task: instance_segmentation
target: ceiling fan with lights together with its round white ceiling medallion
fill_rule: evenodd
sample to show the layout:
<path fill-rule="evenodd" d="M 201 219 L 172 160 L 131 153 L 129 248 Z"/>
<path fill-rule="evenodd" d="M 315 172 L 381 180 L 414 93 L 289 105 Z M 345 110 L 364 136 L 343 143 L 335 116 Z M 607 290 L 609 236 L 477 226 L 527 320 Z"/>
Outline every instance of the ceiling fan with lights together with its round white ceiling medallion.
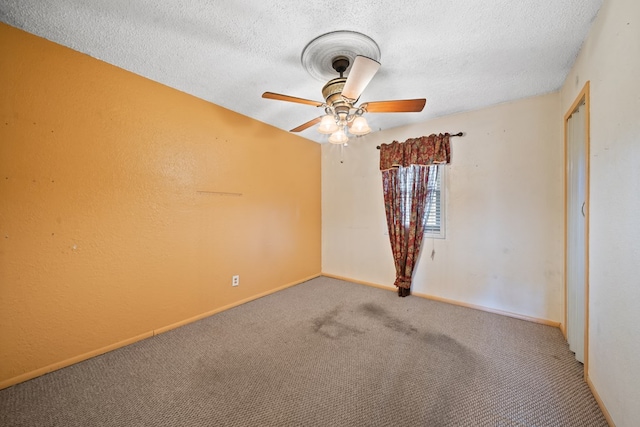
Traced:
<path fill-rule="evenodd" d="M 302 66 L 318 80 L 329 81 L 322 88 L 325 102 L 265 92 L 263 98 L 323 107 L 325 115 L 291 129 L 301 132 L 317 123 L 317 131 L 330 135 L 332 144 L 346 144 L 347 133 L 360 136 L 371 132 L 364 113 L 420 112 L 426 100 L 407 99 L 368 102 L 356 106 L 360 95 L 380 68 L 380 48 L 370 37 L 355 31 L 334 31 L 316 37 L 302 51 Z M 331 71 L 333 70 L 333 71 Z M 348 72 L 347 77 L 344 73 Z M 339 77 L 335 77 L 335 73 Z"/>

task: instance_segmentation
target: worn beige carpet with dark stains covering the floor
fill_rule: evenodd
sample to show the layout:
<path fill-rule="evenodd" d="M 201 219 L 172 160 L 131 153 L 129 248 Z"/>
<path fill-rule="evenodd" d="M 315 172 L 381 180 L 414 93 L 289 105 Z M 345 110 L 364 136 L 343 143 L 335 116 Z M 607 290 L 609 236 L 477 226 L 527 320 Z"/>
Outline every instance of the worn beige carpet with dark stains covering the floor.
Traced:
<path fill-rule="evenodd" d="M 606 426 L 556 328 L 329 278 L 0 391 L 2 426 Z"/>

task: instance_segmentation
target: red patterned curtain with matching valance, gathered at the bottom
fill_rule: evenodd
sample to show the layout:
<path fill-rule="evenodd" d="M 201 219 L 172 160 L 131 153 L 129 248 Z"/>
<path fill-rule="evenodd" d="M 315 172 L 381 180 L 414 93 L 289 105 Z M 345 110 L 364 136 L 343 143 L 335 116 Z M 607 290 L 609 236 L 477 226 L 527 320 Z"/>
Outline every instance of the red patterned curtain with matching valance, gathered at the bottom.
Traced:
<path fill-rule="evenodd" d="M 380 170 L 389 240 L 396 267 L 394 285 L 399 296 L 411 289 L 427 209 L 429 167 L 450 163 L 449 134 L 412 138 L 400 143 L 382 144 Z"/>

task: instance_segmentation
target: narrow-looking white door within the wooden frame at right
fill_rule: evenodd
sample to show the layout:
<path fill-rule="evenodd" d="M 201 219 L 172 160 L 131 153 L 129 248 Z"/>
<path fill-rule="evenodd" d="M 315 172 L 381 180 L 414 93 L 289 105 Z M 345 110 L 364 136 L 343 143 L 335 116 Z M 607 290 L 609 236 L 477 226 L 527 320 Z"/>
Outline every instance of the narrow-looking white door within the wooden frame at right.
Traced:
<path fill-rule="evenodd" d="M 586 294 L 586 118 L 584 102 L 567 120 L 567 341 L 584 363 Z"/>

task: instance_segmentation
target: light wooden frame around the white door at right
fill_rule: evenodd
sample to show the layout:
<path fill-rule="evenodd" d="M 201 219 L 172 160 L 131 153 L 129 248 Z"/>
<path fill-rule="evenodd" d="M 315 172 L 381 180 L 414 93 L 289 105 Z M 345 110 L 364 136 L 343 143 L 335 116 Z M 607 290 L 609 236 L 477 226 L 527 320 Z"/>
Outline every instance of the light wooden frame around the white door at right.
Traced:
<path fill-rule="evenodd" d="M 567 163 L 568 147 L 567 147 L 567 122 L 569 117 L 577 110 L 578 106 L 584 102 L 585 107 L 585 201 L 584 201 L 584 379 L 585 381 L 589 377 L 589 177 L 590 173 L 590 159 L 589 159 L 589 147 L 591 145 L 591 103 L 589 97 L 590 82 L 587 81 L 584 87 L 576 97 L 571 107 L 564 115 L 564 323 L 562 325 L 562 333 L 567 338 L 567 317 L 568 317 L 568 290 L 567 290 L 567 274 L 568 274 L 568 218 L 569 210 L 567 206 L 568 199 L 568 181 Z"/>

